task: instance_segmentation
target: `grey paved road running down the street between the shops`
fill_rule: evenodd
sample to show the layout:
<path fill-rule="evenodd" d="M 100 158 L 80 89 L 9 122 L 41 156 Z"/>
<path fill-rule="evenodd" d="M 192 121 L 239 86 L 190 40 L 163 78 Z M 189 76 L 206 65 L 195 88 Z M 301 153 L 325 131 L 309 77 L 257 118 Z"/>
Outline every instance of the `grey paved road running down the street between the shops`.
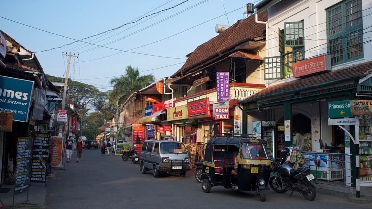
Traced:
<path fill-rule="evenodd" d="M 266 202 L 260 202 L 254 193 L 223 187 L 212 187 L 210 193 L 204 193 L 193 171 L 187 172 L 186 177 L 154 178 L 151 172 L 142 174 L 139 165 L 123 162 L 120 156 L 101 156 L 98 150 L 84 150 L 81 162 L 72 161 L 65 171 L 54 171 L 55 179 L 47 185 L 48 209 L 371 208 L 370 204 L 351 203 L 326 194 L 307 201 L 298 193 L 289 197 L 289 193 L 267 190 Z"/>

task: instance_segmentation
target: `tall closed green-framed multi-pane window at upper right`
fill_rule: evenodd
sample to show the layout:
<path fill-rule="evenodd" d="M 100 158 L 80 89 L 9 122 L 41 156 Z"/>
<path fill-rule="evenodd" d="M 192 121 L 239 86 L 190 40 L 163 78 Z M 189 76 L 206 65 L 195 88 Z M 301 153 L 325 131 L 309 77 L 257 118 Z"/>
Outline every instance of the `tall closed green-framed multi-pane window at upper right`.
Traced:
<path fill-rule="evenodd" d="M 362 0 L 347 0 L 326 10 L 332 65 L 363 58 Z"/>

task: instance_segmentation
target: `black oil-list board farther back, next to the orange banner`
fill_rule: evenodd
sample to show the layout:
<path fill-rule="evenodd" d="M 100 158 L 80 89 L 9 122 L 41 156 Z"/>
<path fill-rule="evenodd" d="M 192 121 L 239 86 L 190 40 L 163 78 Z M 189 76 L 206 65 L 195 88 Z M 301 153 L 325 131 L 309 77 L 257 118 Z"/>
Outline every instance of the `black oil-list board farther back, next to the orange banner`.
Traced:
<path fill-rule="evenodd" d="M 31 181 L 45 182 L 48 165 L 49 134 L 36 133 L 32 150 Z"/>

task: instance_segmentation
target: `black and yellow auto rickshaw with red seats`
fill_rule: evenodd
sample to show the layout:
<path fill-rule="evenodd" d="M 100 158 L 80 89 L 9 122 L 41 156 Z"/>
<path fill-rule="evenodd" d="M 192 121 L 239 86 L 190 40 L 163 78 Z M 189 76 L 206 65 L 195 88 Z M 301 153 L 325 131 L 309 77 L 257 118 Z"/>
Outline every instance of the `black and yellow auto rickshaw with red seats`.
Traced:
<path fill-rule="evenodd" d="M 266 141 L 248 134 L 212 137 L 205 148 L 202 189 L 213 186 L 239 191 L 256 191 L 261 201 L 270 178 Z"/>

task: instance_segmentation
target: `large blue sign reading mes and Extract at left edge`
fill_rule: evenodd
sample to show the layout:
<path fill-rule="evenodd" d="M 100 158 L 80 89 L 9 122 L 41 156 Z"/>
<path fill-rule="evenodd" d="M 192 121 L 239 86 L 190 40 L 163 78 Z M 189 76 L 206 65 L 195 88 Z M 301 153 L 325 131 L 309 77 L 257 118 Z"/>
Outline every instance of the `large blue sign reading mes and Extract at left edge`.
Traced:
<path fill-rule="evenodd" d="M 27 122 L 34 82 L 0 75 L 0 111 L 13 113 L 13 120 Z"/>

